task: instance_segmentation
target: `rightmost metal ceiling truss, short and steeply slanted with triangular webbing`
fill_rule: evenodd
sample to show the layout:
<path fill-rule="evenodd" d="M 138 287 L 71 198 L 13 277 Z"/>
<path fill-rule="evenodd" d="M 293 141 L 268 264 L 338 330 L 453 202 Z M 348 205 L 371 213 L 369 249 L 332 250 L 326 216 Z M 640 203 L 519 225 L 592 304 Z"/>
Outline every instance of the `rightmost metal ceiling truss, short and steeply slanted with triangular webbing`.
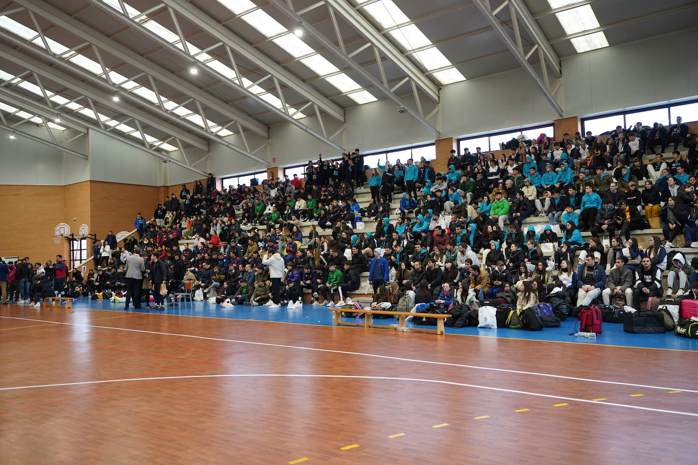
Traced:
<path fill-rule="evenodd" d="M 504 0 L 503 3 L 496 8 L 491 8 L 490 0 L 473 0 L 473 3 L 477 9 L 480 10 L 485 20 L 492 26 L 493 31 L 499 36 L 503 43 L 505 43 L 512 55 L 514 55 L 514 58 L 517 59 L 523 69 L 526 70 L 526 73 L 530 75 L 535 85 L 540 89 L 555 112 L 559 116 L 563 116 L 563 109 L 553 95 L 554 92 L 559 89 L 561 82 L 560 59 L 555 54 L 547 39 L 543 36 L 540 28 L 535 24 L 533 17 L 526 7 L 523 6 L 523 3 L 521 3 L 521 0 Z M 513 40 L 500 24 L 500 20 L 496 17 L 497 13 L 507 7 L 512 17 L 512 29 L 514 30 Z M 519 26 L 525 27 L 529 32 L 530 38 L 533 40 L 533 48 L 526 53 L 523 51 L 523 42 L 521 40 L 521 30 Z M 540 61 L 540 75 L 538 75 L 535 69 L 533 69 L 533 66 L 528 62 L 528 59 L 530 59 L 535 52 L 538 52 L 538 59 Z M 554 86 L 554 89 L 551 89 L 550 86 L 550 78 L 548 76 L 549 69 L 556 77 L 560 78 Z"/>

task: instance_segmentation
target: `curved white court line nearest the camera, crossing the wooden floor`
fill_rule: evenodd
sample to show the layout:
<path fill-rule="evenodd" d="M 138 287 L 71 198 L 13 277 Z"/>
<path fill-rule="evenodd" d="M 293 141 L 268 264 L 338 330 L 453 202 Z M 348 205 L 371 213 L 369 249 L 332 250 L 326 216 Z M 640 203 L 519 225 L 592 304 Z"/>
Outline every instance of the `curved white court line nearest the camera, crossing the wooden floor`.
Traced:
<path fill-rule="evenodd" d="M 638 405 L 616 404 L 614 402 L 600 402 L 588 399 L 577 399 L 576 397 L 563 397 L 559 395 L 541 394 L 540 392 L 528 392 L 525 390 L 493 388 L 491 386 L 478 386 L 477 384 L 455 383 L 454 381 L 441 381 L 439 379 L 419 379 L 419 378 L 393 378 L 390 376 L 350 376 L 341 374 L 195 374 L 189 376 L 158 376 L 156 378 L 130 378 L 130 379 L 107 379 L 103 381 L 81 381 L 79 383 L 59 383 L 59 384 L 40 384 L 36 386 L 17 386 L 15 388 L 0 388 L 0 390 L 13 389 L 31 389 L 31 388 L 53 388 L 58 386 L 79 386 L 81 384 L 99 384 L 99 383 L 121 383 L 125 381 L 154 381 L 162 379 L 193 379 L 193 378 L 244 378 L 244 377 L 278 377 L 278 378 L 345 378 L 345 379 L 388 379 L 393 381 L 419 381 L 422 383 L 438 383 L 448 384 L 451 386 L 463 386 L 465 388 L 476 388 L 486 390 L 496 390 L 500 392 L 512 392 L 514 394 L 534 395 L 537 397 L 547 397 L 549 399 L 563 399 L 572 402 L 585 402 L 586 404 L 603 404 L 616 407 L 624 407 L 626 409 L 646 410 L 661 413 L 674 413 L 676 415 L 685 415 L 698 417 L 698 413 L 690 413 L 674 410 L 652 409 L 651 407 L 643 407 Z"/>

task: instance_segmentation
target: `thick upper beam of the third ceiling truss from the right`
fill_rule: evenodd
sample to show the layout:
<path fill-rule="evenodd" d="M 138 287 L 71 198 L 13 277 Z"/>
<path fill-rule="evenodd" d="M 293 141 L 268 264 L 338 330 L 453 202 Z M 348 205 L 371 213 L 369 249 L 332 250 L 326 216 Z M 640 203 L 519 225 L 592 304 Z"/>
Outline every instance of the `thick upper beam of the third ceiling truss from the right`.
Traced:
<path fill-rule="evenodd" d="M 94 0 L 93 0 L 94 1 Z M 318 105 L 325 113 L 332 116 L 338 121 L 344 121 L 344 110 L 331 102 L 327 97 L 313 89 L 311 86 L 304 84 L 301 79 L 285 70 L 279 63 L 269 58 L 252 45 L 230 31 L 227 27 L 216 22 L 212 17 L 204 13 L 202 10 L 185 0 L 162 0 L 165 5 L 177 11 L 180 15 L 187 18 L 203 31 L 207 31 L 214 36 L 216 40 L 221 40 L 225 45 L 228 45 L 235 52 L 244 56 L 246 59 L 257 63 L 267 72 L 272 73 L 274 77 L 279 79 L 288 89 L 299 93 L 304 98 Z"/>

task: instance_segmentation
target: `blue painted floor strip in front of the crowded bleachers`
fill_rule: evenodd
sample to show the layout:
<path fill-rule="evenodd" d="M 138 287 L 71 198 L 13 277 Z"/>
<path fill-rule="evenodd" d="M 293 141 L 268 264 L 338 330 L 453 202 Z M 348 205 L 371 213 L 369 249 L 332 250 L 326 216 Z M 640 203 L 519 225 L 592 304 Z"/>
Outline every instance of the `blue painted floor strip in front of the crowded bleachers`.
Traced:
<path fill-rule="evenodd" d="M 89 300 L 79 298 L 73 300 L 75 309 L 98 309 L 124 311 L 124 303 L 111 303 L 108 300 Z M 130 310 L 134 312 L 133 308 Z M 268 307 L 246 307 L 236 305 L 225 308 L 205 302 L 183 303 L 179 307 L 168 306 L 164 311 L 143 308 L 139 312 L 184 315 L 188 317 L 228 318 L 240 320 L 279 321 L 281 323 L 300 323 L 320 326 L 332 326 L 332 312 L 320 305 L 303 305 L 303 308 L 269 309 Z M 343 318 L 343 321 L 359 322 L 363 319 Z M 390 325 L 397 323 L 396 319 L 376 320 L 378 324 Z M 408 323 L 412 326 L 412 323 Z M 344 326 L 346 330 L 360 330 Z M 419 326 L 429 328 L 429 326 Z M 436 327 L 433 327 L 436 328 Z M 698 340 L 690 340 L 674 335 L 673 332 L 664 334 L 631 334 L 623 331 L 623 325 L 604 323 L 603 334 L 596 339 L 586 339 L 570 335 L 574 330 L 574 319 L 563 321 L 560 328 L 545 328 L 542 331 L 524 331 L 515 329 L 484 329 L 484 328 L 446 328 L 446 333 L 454 335 L 469 335 L 480 337 L 505 337 L 512 339 L 543 340 L 556 342 L 576 342 L 582 344 L 604 344 L 615 346 L 646 347 L 650 349 L 678 349 L 698 351 Z M 436 337 L 436 336 L 435 336 Z"/>

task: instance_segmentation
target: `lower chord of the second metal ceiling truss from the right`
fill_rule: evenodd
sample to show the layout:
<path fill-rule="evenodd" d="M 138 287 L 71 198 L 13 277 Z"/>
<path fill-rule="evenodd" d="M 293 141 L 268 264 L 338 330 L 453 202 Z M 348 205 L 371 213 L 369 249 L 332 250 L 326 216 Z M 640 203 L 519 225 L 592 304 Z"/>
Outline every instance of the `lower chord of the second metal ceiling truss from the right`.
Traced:
<path fill-rule="evenodd" d="M 398 107 L 404 107 L 404 109 L 406 109 L 407 112 L 411 116 L 413 116 L 414 119 L 416 119 L 419 123 L 424 125 L 424 127 L 427 130 L 429 130 L 429 132 L 431 132 L 436 137 L 440 136 L 440 131 L 436 129 L 436 127 L 434 127 L 431 123 L 429 123 L 429 121 L 426 121 L 422 112 L 419 112 L 418 110 L 415 110 L 413 107 L 410 107 L 410 105 L 408 105 L 407 102 L 396 96 L 390 89 L 388 89 L 387 86 L 385 86 L 385 84 L 383 84 L 383 82 L 380 81 L 380 79 L 371 75 L 371 73 L 366 71 L 364 68 L 362 68 L 361 65 L 359 65 L 359 63 L 352 59 L 351 56 L 349 56 L 348 54 L 346 54 L 346 52 L 343 52 L 339 47 L 334 45 L 332 40 L 329 40 L 329 38 L 325 37 L 322 33 L 320 33 L 320 31 L 315 29 L 315 27 L 311 26 L 310 24 L 307 24 L 307 22 L 303 20 L 303 17 L 296 13 L 296 11 L 285 2 L 285 0 L 269 0 L 269 3 L 276 6 L 276 8 L 279 8 L 279 10 L 281 10 L 281 12 L 284 13 L 287 17 L 289 17 L 293 22 L 302 23 L 305 31 L 309 33 L 311 36 L 313 36 L 315 40 L 318 40 L 318 42 L 320 42 L 324 47 L 326 47 L 329 52 L 332 52 L 332 54 L 334 54 L 339 59 L 347 63 L 348 66 L 350 66 L 352 70 L 354 70 L 357 74 L 362 76 L 367 81 L 371 82 L 371 84 L 373 84 L 373 86 L 376 89 L 381 91 L 387 98 L 389 98 L 389 100 L 392 100 Z M 378 63 L 382 63 L 382 60 L 379 59 Z"/>

